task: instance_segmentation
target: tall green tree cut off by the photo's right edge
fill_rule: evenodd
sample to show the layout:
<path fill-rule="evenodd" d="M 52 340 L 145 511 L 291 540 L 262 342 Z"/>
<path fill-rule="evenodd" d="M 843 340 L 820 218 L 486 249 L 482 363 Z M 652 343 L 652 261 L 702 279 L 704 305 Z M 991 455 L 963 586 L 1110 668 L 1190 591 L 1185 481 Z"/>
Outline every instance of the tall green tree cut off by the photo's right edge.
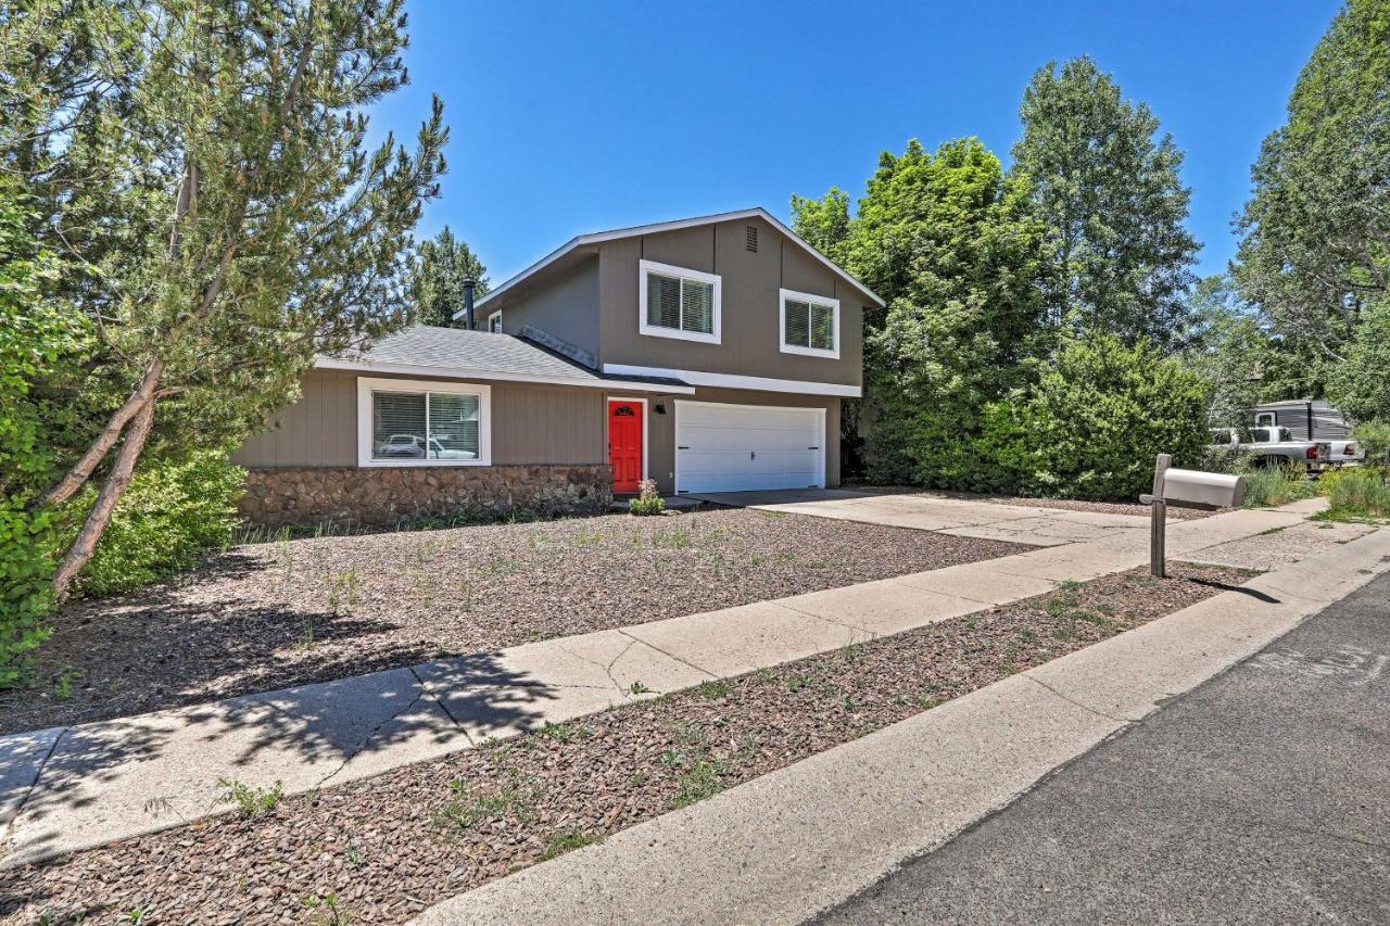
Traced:
<path fill-rule="evenodd" d="M 1233 267 L 1282 334 L 1341 359 L 1390 299 L 1390 3 L 1351 0 L 1265 139 Z"/>

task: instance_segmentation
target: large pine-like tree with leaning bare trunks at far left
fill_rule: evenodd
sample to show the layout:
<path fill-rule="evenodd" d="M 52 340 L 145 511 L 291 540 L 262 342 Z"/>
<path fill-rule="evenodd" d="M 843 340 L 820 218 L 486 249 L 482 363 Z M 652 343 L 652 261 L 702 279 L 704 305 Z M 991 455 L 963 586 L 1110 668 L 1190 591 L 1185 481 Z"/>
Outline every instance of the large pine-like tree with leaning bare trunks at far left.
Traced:
<path fill-rule="evenodd" d="M 406 82 L 402 0 L 33 0 L 0 22 L 0 168 L 99 334 L 103 412 L 44 495 L 101 478 L 53 576 L 92 556 L 147 445 L 222 446 L 313 356 L 400 324 L 402 253 L 436 195 L 438 100 L 414 152 L 368 149 Z M 96 393 L 95 398 L 92 393 Z"/>

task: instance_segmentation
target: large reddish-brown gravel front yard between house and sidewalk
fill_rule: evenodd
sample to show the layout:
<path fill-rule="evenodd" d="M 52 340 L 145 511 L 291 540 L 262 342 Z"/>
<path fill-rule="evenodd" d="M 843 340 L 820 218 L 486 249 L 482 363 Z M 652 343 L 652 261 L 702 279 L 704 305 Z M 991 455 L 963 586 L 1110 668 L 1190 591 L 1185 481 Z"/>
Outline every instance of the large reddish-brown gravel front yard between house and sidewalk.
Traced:
<path fill-rule="evenodd" d="M 1030 549 L 716 509 L 234 548 L 178 583 L 76 602 L 0 733 L 271 691 Z"/>

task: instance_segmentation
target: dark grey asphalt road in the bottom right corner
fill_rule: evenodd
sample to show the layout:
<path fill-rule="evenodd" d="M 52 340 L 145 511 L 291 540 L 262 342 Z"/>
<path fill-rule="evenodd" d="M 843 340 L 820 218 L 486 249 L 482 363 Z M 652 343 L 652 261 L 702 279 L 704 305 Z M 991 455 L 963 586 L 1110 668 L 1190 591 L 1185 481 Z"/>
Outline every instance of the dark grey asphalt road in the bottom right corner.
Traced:
<path fill-rule="evenodd" d="M 1390 574 L 819 923 L 1390 923 Z"/>

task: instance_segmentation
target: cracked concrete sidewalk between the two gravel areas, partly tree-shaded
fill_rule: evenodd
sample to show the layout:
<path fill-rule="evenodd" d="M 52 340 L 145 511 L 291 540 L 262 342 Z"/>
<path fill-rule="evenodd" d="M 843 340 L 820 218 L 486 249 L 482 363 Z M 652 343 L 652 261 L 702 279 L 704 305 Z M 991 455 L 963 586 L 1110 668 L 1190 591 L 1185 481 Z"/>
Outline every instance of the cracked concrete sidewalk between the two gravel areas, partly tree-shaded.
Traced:
<path fill-rule="evenodd" d="M 1173 558 L 1291 527 L 1302 510 L 1169 527 Z M 225 809 L 220 779 L 304 793 L 610 705 L 901 633 L 1148 560 L 1147 538 L 952 566 L 620 630 L 70 729 L 0 737 L 0 865 Z"/>

